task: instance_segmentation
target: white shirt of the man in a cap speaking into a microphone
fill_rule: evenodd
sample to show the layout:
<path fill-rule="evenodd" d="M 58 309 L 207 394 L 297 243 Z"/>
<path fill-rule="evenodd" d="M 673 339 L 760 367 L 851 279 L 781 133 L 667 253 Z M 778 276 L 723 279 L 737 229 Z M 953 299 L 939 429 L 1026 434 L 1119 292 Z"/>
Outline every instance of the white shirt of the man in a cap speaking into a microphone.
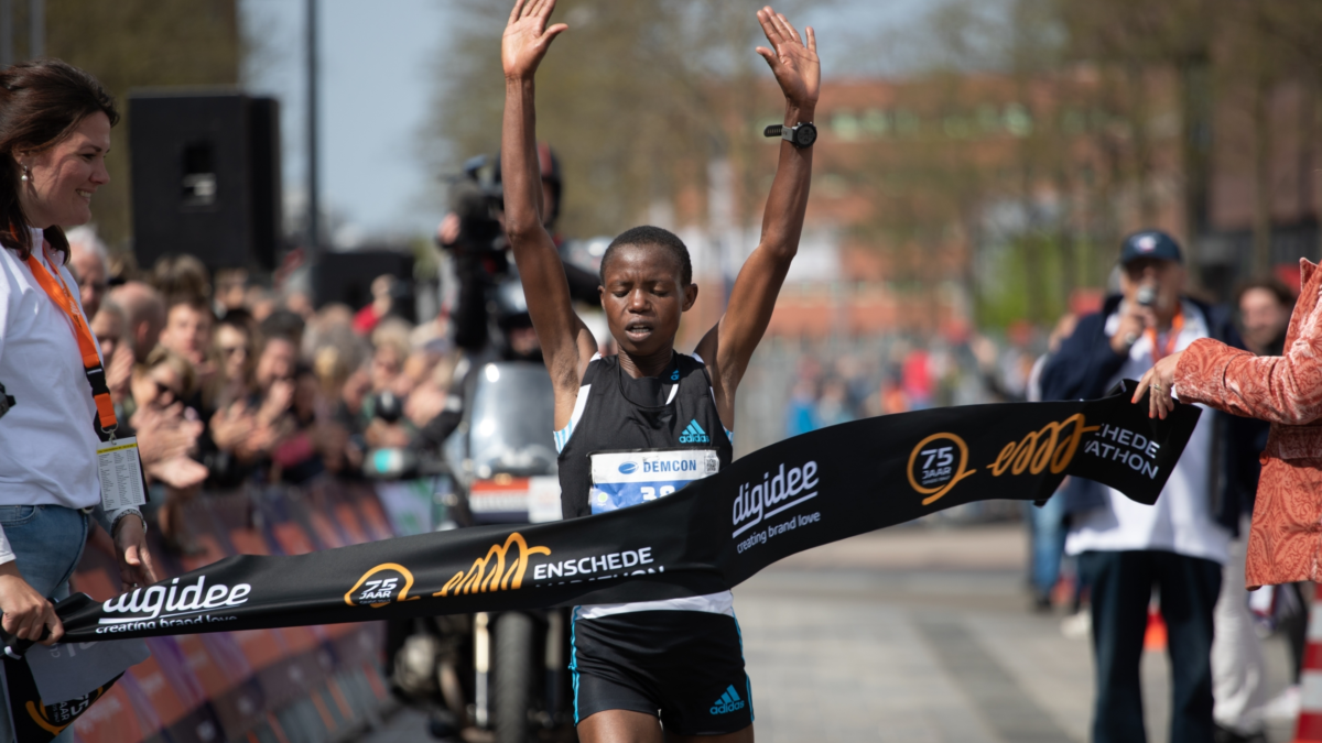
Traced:
<path fill-rule="evenodd" d="M 1175 340 L 1175 350 L 1185 350 L 1198 338 L 1208 336 L 1207 319 L 1195 305 L 1183 303 L 1183 313 L 1185 327 Z M 1107 319 L 1107 336 L 1113 336 L 1118 327 L 1117 309 L 1117 313 Z M 1169 342 L 1166 336 L 1159 336 L 1157 341 L 1162 348 Z M 1151 340 L 1144 334 L 1129 349 L 1129 358 L 1110 383 L 1121 378 L 1138 379 L 1153 364 Z M 1107 488 L 1109 508 L 1079 514 L 1066 537 L 1066 554 L 1162 550 L 1224 563 L 1229 531 L 1212 520 L 1208 508 L 1212 487 L 1211 448 L 1212 416 L 1204 412 L 1157 504 L 1134 502 L 1120 490 Z"/>

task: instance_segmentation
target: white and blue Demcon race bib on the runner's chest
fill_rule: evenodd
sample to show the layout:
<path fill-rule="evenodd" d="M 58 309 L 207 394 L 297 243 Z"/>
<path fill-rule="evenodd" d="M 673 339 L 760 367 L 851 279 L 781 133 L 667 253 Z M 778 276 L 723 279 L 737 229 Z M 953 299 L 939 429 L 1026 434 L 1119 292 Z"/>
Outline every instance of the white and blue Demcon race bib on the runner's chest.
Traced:
<path fill-rule="evenodd" d="M 592 513 L 605 513 L 664 498 L 680 488 L 715 475 L 715 450 L 657 450 L 588 455 L 592 461 Z"/>

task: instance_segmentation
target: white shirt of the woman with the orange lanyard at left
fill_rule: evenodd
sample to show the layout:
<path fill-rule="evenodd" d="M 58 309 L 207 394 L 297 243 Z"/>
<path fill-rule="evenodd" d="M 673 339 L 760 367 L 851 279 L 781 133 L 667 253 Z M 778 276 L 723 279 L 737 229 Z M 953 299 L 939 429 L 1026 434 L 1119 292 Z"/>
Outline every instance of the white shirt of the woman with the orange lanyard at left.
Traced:
<path fill-rule="evenodd" d="M 82 312 L 59 254 L 42 249 L 41 230 L 32 241 L 33 255 L 58 271 Z M 0 383 L 15 398 L 0 418 L 0 505 L 99 505 L 97 406 L 73 323 L 7 247 L 0 247 Z M 11 559 L 0 533 L 0 563 Z"/>

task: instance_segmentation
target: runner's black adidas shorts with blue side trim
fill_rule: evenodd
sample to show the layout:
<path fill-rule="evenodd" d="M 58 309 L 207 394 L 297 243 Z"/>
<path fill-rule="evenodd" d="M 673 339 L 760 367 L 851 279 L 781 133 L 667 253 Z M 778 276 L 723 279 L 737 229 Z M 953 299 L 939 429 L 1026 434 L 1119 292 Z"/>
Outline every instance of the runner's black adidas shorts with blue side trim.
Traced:
<path fill-rule="evenodd" d="M 574 723 L 605 710 L 661 718 L 678 735 L 752 724 L 739 623 L 723 613 L 642 611 L 575 619 Z"/>

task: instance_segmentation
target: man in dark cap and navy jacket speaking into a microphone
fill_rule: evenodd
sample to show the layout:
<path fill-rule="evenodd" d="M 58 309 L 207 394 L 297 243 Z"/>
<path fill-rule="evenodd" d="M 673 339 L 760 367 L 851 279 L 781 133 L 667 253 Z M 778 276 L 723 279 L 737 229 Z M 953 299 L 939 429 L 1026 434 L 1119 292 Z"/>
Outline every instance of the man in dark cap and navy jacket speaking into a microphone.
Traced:
<path fill-rule="evenodd" d="M 1043 399 L 1103 397 L 1198 338 L 1243 348 L 1227 308 L 1183 295 L 1183 258 L 1166 233 L 1125 238 L 1120 268 L 1121 293 L 1108 297 L 1101 312 L 1081 317 L 1042 370 Z M 1228 416 L 1203 414 L 1155 505 L 1085 480 L 1063 492 L 1069 517 L 1066 553 L 1077 558 L 1089 588 L 1096 743 L 1146 739 L 1138 662 L 1154 595 L 1171 656 L 1171 743 L 1207 743 L 1214 731 L 1218 742 L 1252 740 L 1260 731 L 1260 722 L 1244 730 L 1235 721 L 1225 730 L 1212 721 L 1214 607 L 1241 502 L 1256 485 L 1245 485 L 1252 477 L 1243 469 L 1256 472 L 1257 452 L 1231 451 L 1228 424 Z M 1124 456 L 1133 439 L 1116 438 L 1114 452 Z"/>

